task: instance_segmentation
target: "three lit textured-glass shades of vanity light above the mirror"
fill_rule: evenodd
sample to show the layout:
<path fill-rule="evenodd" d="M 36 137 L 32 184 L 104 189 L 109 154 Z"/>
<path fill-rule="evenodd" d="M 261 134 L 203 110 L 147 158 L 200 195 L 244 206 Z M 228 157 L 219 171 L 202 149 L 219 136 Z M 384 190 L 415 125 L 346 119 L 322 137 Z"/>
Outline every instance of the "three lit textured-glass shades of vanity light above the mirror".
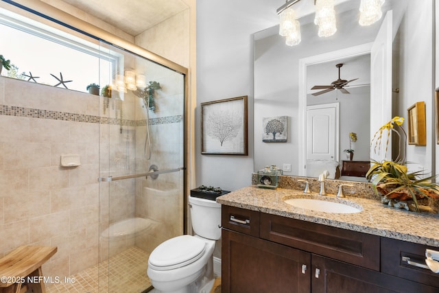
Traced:
<path fill-rule="evenodd" d="M 296 19 L 296 12 L 292 5 L 300 0 L 286 0 L 280 8 L 276 10 L 280 16 L 279 34 L 286 37 L 285 43 L 289 46 L 300 43 L 300 23 Z M 381 19 L 381 7 L 385 0 L 361 0 L 359 7 L 359 24 L 371 25 Z M 328 37 L 337 32 L 335 17 L 335 0 L 314 0 L 316 5 L 316 16 L 314 23 L 318 25 L 318 36 Z"/>

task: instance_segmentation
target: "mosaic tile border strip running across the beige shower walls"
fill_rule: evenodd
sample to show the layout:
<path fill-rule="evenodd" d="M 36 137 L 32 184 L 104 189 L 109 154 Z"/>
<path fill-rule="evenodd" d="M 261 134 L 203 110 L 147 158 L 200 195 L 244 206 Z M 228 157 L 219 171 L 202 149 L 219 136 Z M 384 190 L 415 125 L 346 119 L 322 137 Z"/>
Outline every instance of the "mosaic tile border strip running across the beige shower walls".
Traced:
<path fill-rule="evenodd" d="M 18 106 L 0 105 L 0 115 L 16 116 L 16 117 L 29 117 L 39 119 L 54 119 L 62 121 L 76 121 L 84 123 L 95 124 L 110 124 L 110 125 L 122 125 L 122 126 L 145 126 L 146 121 L 143 120 L 129 120 L 118 119 L 110 117 L 99 117 L 94 115 L 84 115 L 75 113 L 66 113 L 60 111 L 42 110 L 34 108 L 25 108 Z M 150 118 L 150 125 L 179 123 L 183 121 L 183 115 L 175 115 L 169 117 Z M 122 123 L 121 123 L 122 122 Z"/>

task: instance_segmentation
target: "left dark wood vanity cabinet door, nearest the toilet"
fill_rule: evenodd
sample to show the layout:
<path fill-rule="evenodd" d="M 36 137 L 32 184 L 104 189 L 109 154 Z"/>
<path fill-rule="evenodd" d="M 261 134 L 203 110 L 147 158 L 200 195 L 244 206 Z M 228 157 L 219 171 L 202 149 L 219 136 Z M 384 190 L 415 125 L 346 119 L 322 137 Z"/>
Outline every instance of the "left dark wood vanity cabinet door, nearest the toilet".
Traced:
<path fill-rule="evenodd" d="M 222 292 L 311 292 L 311 255 L 222 230 Z"/>

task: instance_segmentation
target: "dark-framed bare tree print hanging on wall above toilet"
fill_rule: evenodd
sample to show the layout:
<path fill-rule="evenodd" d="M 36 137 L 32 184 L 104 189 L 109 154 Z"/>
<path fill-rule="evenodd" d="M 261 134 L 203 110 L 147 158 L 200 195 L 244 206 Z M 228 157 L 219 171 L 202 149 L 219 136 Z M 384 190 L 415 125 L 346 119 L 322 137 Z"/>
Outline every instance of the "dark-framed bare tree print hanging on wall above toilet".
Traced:
<path fill-rule="evenodd" d="M 201 103 L 201 154 L 248 154 L 247 96 Z"/>

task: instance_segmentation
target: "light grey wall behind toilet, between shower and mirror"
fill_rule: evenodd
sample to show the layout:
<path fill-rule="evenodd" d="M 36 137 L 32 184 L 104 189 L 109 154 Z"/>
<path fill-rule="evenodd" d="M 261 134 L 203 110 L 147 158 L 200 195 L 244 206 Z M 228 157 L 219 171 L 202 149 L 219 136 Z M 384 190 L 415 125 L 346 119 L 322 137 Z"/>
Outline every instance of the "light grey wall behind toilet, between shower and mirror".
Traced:
<path fill-rule="evenodd" d="M 277 3 L 276 3 L 277 2 Z M 253 60 L 251 34 L 278 21 L 282 0 L 197 2 L 196 185 L 235 190 L 253 172 Z M 248 156 L 201 154 L 200 103 L 248 95 Z"/>

